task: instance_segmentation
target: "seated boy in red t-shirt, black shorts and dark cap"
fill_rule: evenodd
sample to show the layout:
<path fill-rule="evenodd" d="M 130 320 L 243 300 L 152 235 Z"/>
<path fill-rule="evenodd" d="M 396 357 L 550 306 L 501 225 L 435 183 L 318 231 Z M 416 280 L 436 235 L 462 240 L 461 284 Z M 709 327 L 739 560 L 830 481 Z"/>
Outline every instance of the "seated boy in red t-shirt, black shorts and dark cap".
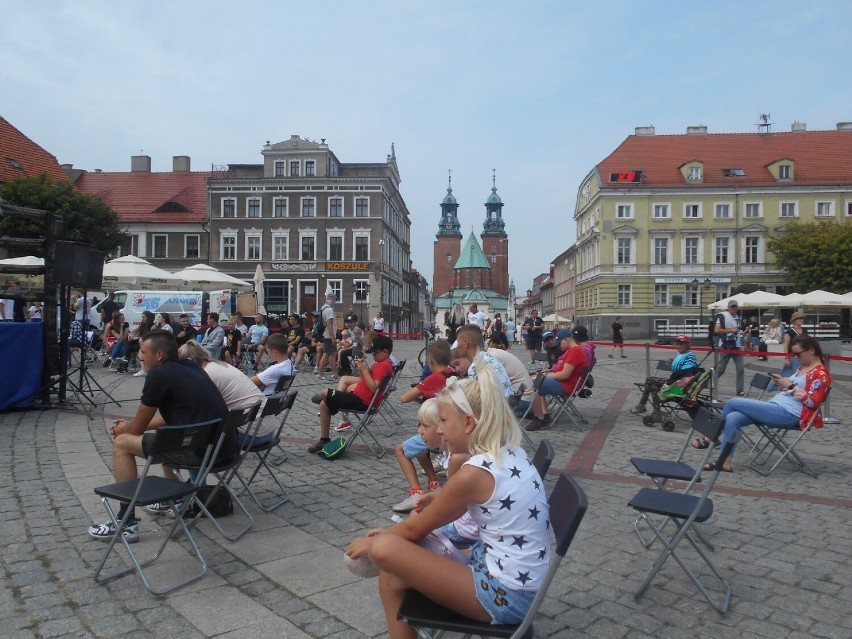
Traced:
<path fill-rule="evenodd" d="M 366 350 L 373 356 L 372 366 L 367 366 L 363 359 L 354 360 L 358 377 L 341 377 L 337 388 L 324 388 L 311 398 L 311 401 L 320 407 L 320 438 L 308 447 L 309 453 L 318 453 L 331 441 L 329 433 L 332 415 L 339 411 L 367 410 L 381 381 L 393 375 L 393 365 L 390 361 L 392 351 L 393 340 L 387 335 L 376 335 L 373 344 Z"/>

